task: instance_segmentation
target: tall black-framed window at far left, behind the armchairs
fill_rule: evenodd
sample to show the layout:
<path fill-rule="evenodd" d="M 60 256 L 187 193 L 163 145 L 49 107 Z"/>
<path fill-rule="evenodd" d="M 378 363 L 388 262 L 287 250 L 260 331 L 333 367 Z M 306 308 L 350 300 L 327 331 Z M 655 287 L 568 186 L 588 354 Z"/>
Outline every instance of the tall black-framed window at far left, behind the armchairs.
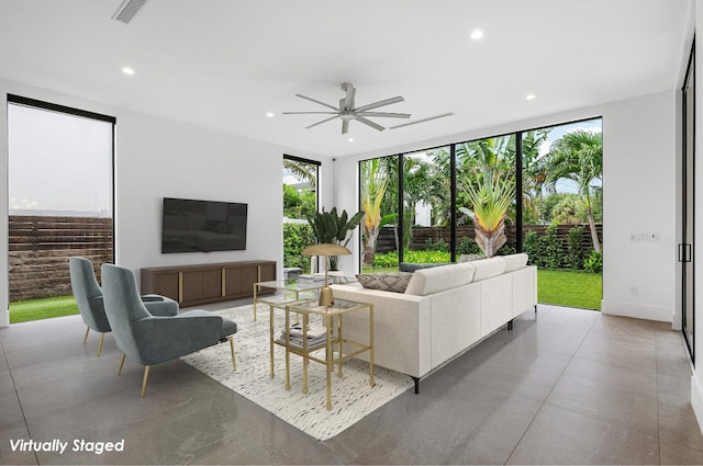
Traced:
<path fill-rule="evenodd" d="M 77 312 L 68 258 L 113 262 L 107 115 L 8 95 L 10 321 Z"/>

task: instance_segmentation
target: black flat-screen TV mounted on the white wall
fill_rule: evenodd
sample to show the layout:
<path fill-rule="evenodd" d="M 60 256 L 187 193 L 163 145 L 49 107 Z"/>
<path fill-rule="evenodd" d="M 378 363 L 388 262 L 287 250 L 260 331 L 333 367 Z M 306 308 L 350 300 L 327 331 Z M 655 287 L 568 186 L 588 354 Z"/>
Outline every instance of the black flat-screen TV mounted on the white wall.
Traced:
<path fill-rule="evenodd" d="M 246 249 L 247 204 L 164 197 L 161 252 Z"/>

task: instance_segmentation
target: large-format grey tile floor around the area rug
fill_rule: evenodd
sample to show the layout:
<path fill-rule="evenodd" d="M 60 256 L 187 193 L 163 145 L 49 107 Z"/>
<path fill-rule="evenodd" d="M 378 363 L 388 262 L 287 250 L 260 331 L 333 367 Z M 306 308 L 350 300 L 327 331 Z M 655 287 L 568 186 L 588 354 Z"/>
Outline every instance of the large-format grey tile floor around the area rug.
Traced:
<path fill-rule="evenodd" d="M 142 399 L 142 367 L 118 377 L 112 337 L 96 357 L 83 330 L 78 316 L 0 329 L 0 464 L 703 464 L 666 323 L 539 306 L 326 442 L 180 361 L 153 367 Z M 30 436 L 125 448 L 12 452 Z"/>

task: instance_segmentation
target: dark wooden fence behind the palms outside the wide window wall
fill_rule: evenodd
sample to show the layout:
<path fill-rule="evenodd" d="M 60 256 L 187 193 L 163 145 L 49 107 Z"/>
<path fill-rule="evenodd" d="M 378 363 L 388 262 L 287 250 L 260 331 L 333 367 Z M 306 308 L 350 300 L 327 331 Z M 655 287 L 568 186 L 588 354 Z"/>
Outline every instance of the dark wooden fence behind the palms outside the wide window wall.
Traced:
<path fill-rule="evenodd" d="M 568 249 L 569 247 L 569 230 L 579 225 L 559 225 L 557 226 L 557 237 L 561 240 L 562 247 Z M 581 247 L 589 251 L 593 249 L 593 241 L 591 239 L 591 230 L 588 225 L 580 225 L 583 228 L 581 236 Z M 595 226 L 600 241 L 603 241 L 603 225 L 598 224 Z M 523 226 L 523 239 L 525 234 L 529 230 L 535 231 L 537 236 L 543 236 L 547 229 L 547 225 L 524 225 Z M 515 243 L 515 226 L 509 225 L 505 227 L 505 235 L 507 236 L 507 243 Z M 462 225 L 457 227 L 457 241 L 460 241 L 464 237 L 473 238 L 473 225 Z M 397 250 L 395 229 L 393 226 L 386 226 L 381 229 L 379 239 L 377 241 L 376 252 L 389 252 Z M 427 240 L 433 242 L 443 239 L 447 245 L 451 241 L 451 229 L 449 227 L 413 227 L 410 238 L 410 249 L 423 250 Z"/>

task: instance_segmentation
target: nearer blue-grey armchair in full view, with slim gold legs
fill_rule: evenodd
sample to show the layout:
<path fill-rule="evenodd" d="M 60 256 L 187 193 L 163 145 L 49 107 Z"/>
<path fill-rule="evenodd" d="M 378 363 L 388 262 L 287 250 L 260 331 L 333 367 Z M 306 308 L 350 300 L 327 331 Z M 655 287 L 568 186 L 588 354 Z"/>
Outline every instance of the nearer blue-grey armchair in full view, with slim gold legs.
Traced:
<path fill-rule="evenodd" d="M 149 366 L 217 343 L 230 342 L 232 366 L 236 371 L 232 339 L 237 331 L 236 322 L 199 309 L 177 316 L 153 316 L 140 298 L 134 273 L 118 265 L 102 265 L 102 289 L 105 314 L 123 353 L 118 375 L 122 374 L 125 356 L 144 365 L 142 398 Z"/>

